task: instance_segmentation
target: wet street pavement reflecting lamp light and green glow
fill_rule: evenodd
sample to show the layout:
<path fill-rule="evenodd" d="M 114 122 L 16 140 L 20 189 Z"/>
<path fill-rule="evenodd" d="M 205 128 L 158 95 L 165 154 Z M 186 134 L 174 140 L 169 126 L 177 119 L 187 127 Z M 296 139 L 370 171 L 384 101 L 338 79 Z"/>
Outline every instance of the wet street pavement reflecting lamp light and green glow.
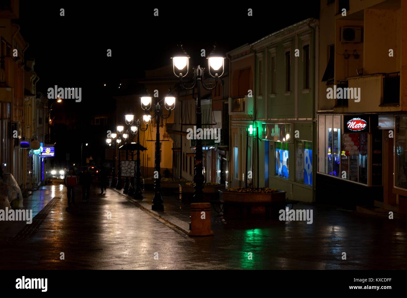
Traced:
<path fill-rule="evenodd" d="M 65 187 L 59 195 L 32 225 L 13 238 L 0 238 L 1 269 L 407 268 L 407 223 L 402 221 L 302 204 L 295 208 L 313 209 L 311 225 L 224 220 L 212 209 L 214 236 L 189 238 L 116 190 L 101 196 L 94 186 L 85 204 L 77 189 L 77 204 L 68 208 Z M 144 201 L 151 195 L 146 192 Z M 164 212 L 188 221 L 187 203 L 164 197 L 164 204 Z"/>

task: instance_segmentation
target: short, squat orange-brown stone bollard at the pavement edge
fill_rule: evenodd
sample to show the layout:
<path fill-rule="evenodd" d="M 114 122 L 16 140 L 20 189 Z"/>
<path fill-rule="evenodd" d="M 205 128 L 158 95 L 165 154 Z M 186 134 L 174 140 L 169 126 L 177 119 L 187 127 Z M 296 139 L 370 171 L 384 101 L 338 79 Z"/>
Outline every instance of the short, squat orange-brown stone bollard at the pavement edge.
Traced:
<path fill-rule="evenodd" d="M 190 236 L 211 236 L 212 223 L 210 221 L 210 203 L 192 203 L 191 204 L 191 231 Z"/>

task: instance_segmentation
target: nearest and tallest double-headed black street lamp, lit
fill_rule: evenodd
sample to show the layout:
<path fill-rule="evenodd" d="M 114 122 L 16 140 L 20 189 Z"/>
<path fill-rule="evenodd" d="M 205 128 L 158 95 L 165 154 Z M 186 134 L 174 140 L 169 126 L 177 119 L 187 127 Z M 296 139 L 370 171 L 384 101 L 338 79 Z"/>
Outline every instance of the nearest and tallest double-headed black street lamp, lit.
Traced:
<path fill-rule="evenodd" d="M 181 86 L 185 90 L 192 90 L 197 87 L 197 130 L 202 129 L 202 111 L 201 111 L 201 89 L 202 86 L 206 90 L 213 90 L 216 88 L 218 84 L 218 79 L 223 75 L 224 72 L 224 60 L 225 56 L 221 54 L 217 49 L 216 45 L 214 45 L 212 52 L 210 52 L 208 59 L 208 72 L 209 75 L 215 78 L 215 82 L 211 84 L 205 84 L 204 80 L 204 72 L 205 68 L 201 68 L 200 65 L 198 67 L 193 68 L 194 76 L 193 82 L 186 84 L 182 81 L 188 74 L 189 70 L 189 56 L 186 54 L 182 45 L 178 45 L 177 51 L 173 55 L 173 71 L 175 76 L 177 76 L 180 80 Z M 195 191 L 194 191 L 194 199 L 196 202 L 202 202 L 204 200 L 204 180 L 205 177 L 202 173 L 203 171 L 203 152 L 202 152 L 202 140 L 196 139 L 195 143 L 195 175 L 194 175 L 194 182 L 195 182 Z"/>

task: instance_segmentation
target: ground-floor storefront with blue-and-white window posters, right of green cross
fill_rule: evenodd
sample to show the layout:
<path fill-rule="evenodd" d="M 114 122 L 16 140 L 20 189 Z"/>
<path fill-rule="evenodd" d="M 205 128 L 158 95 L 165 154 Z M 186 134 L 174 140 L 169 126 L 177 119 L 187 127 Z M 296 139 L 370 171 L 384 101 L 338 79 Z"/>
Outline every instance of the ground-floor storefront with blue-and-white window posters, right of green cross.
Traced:
<path fill-rule="evenodd" d="M 261 139 L 269 187 L 286 191 L 290 199 L 312 202 L 313 123 L 262 123 Z"/>

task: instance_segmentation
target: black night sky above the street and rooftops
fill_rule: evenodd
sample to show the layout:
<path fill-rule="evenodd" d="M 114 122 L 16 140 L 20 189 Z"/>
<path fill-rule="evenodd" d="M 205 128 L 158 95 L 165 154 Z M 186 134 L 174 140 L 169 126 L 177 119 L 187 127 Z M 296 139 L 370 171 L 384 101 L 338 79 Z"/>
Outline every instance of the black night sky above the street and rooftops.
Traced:
<path fill-rule="evenodd" d="M 46 93 L 55 84 L 81 87 L 82 97 L 94 101 L 95 93 L 103 91 L 98 87 L 104 82 L 141 77 L 146 69 L 170 63 L 178 41 L 191 58 L 199 57 L 202 48 L 209 53 L 214 42 L 226 52 L 317 17 L 319 11 L 318 0 L 261 5 L 226 5 L 220 1 L 165 6 L 140 3 L 21 0 L 16 22 L 30 44 L 26 58 L 36 61 L 39 91 Z M 61 8 L 65 9 L 64 17 L 59 15 Z M 154 8 L 159 9 L 159 17 L 153 16 Z M 247 16 L 248 8 L 253 9 L 253 17 Z M 106 56 L 107 49 L 112 49 L 112 57 Z"/>

